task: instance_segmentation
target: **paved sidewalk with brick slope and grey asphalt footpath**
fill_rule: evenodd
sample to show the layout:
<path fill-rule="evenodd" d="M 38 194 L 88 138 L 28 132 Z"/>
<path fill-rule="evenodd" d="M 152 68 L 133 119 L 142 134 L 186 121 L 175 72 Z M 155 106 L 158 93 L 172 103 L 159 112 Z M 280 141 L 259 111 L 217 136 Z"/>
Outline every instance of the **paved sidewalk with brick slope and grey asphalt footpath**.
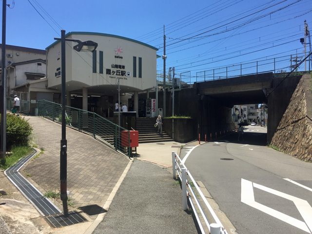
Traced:
<path fill-rule="evenodd" d="M 61 125 L 41 117 L 25 118 L 44 153 L 30 160 L 21 174 L 29 176 L 43 194 L 59 191 Z M 171 152 L 178 152 L 180 143 L 140 144 L 137 159 L 130 160 L 77 130 L 66 128 L 66 138 L 67 190 L 78 208 L 69 209 L 81 212 L 88 222 L 51 228 L 1 172 L 0 189 L 8 195 L 0 196 L 0 216 L 13 234 L 99 234 L 108 229 L 110 233 L 197 233 L 192 215 L 182 210 L 181 189 L 171 174 Z M 53 203 L 62 210 L 57 200 Z"/>

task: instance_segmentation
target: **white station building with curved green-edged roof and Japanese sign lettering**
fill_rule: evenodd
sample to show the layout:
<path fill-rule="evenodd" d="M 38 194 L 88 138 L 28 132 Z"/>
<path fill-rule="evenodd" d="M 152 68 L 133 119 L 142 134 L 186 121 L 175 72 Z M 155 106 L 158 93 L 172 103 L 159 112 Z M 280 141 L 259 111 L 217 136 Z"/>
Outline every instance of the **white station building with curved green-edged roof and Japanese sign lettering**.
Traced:
<path fill-rule="evenodd" d="M 77 43 L 66 41 L 66 105 L 112 117 L 119 96 L 120 102 L 138 112 L 138 92 L 156 87 L 157 48 L 103 33 L 70 32 L 65 37 L 98 43 L 90 53 L 77 52 L 73 49 Z M 46 50 L 48 89 L 60 92 L 60 41 Z"/>

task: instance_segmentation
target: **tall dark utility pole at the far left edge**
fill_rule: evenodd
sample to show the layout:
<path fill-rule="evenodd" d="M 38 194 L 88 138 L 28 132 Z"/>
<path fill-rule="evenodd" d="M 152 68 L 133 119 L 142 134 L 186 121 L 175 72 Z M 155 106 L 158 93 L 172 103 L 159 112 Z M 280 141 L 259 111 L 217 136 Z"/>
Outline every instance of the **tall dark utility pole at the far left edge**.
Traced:
<path fill-rule="evenodd" d="M 1 54 L 1 85 L 0 85 L 0 158 L 6 153 L 6 76 L 5 76 L 5 32 L 6 32 L 6 0 L 2 0 L 2 54 Z M 2 98 L 2 100 L 1 100 Z"/>

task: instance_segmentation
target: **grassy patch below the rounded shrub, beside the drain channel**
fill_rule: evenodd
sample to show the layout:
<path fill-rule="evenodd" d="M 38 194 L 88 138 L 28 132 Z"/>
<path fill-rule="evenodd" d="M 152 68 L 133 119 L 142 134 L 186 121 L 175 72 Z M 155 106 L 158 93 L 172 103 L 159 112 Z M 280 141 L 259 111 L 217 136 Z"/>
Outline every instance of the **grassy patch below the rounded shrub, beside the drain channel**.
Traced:
<path fill-rule="evenodd" d="M 29 155 L 32 152 L 30 146 L 12 146 L 12 154 L 0 159 L 1 170 L 6 170 L 13 166 L 20 158 Z"/>

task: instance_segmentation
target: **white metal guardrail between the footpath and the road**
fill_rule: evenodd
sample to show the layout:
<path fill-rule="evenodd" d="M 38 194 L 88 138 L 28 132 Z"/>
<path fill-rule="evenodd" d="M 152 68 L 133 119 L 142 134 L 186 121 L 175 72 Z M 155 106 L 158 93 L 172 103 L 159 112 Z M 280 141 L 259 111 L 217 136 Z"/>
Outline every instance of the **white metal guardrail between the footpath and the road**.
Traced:
<path fill-rule="evenodd" d="M 176 180 L 176 175 L 178 175 L 180 178 L 181 184 L 182 184 L 182 206 L 183 206 L 183 210 L 188 209 L 187 200 L 189 200 L 189 202 L 191 204 L 191 208 L 194 211 L 195 218 L 197 220 L 197 223 L 199 225 L 201 233 L 205 234 L 205 230 L 204 230 L 203 224 L 199 218 L 199 215 L 196 212 L 195 204 L 196 204 L 197 209 L 200 212 L 202 219 L 204 220 L 203 223 L 207 226 L 207 228 L 209 229 L 209 232 L 211 234 L 228 234 L 227 231 L 225 230 L 225 228 L 223 227 L 222 223 L 220 222 L 219 218 L 216 216 L 213 208 L 208 203 L 206 197 L 201 192 L 201 190 L 198 187 L 193 176 L 191 175 L 189 170 L 187 170 L 186 166 L 183 164 L 181 158 L 176 154 L 176 152 L 172 152 L 172 172 L 173 172 L 173 178 Z M 205 215 L 205 213 L 204 213 L 204 211 L 203 211 L 201 205 L 199 204 L 199 201 L 195 195 L 195 191 L 193 190 L 193 188 L 191 186 L 191 182 L 194 185 L 197 193 L 200 195 L 201 199 L 203 200 L 205 206 L 208 208 L 208 210 L 209 210 L 210 214 L 212 215 L 215 223 L 209 223 L 209 221 L 207 219 L 207 215 Z M 190 195 L 190 193 L 188 191 L 190 191 L 190 193 L 192 195 Z M 193 196 L 195 203 L 193 202 L 192 196 Z"/>

